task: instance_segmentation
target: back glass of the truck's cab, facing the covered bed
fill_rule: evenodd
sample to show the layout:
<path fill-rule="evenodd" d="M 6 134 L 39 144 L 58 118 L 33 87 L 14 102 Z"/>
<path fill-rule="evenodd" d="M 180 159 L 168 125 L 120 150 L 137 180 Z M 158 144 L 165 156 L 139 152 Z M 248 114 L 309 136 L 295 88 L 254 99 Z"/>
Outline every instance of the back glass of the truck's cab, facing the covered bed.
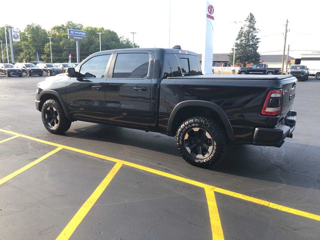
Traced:
<path fill-rule="evenodd" d="M 169 76 L 201 75 L 199 58 L 187 54 L 166 54 L 163 78 Z"/>

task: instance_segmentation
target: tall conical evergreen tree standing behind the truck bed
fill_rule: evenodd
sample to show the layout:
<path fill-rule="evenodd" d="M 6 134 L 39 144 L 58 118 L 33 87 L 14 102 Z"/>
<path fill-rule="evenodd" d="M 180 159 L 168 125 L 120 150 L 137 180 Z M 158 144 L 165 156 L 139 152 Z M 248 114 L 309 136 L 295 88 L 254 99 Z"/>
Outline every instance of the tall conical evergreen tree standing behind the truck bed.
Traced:
<path fill-rule="evenodd" d="M 259 46 L 259 38 L 257 37 L 258 29 L 255 27 L 255 18 L 250 12 L 245 19 L 245 24 L 241 26 L 235 42 L 235 59 L 234 62 L 239 62 L 246 65 L 247 62 L 259 63 L 260 54 L 257 52 Z M 229 54 L 229 63 L 233 61 L 233 47 Z"/>

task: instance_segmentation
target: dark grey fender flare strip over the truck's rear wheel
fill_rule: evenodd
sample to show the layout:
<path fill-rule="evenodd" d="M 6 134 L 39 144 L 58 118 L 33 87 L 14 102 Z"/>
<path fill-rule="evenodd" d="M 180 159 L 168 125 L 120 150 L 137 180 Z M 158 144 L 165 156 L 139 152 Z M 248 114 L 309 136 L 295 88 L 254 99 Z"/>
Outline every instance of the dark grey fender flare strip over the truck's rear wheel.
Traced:
<path fill-rule="evenodd" d="M 169 120 L 168 120 L 167 134 L 169 136 L 174 135 L 174 133 L 172 132 L 172 124 L 173 124 L 175 115 L 177 114 L 177 112 L 181 108 L 183 108 L 185 106 L 203 106 L 203 107 L 207 107 L 207 108 L 210 108 L 213 111 L 215 111 L 219 115 L 219 117 L 225 127 L 225 130 L 226 130 L 226 133 L 227 133 L 229 140 L 235 141 L 231 123 L 230 123 L 227 115 L 225 114 L 225 112 L 222 110 L 222 108 L 213 102 L 202 101 L 202 100 L 186 100 L 186 101 L 181 101 L 175 105 L 175 107 L 173 108 L 173 110 L 169 116 Z"/>

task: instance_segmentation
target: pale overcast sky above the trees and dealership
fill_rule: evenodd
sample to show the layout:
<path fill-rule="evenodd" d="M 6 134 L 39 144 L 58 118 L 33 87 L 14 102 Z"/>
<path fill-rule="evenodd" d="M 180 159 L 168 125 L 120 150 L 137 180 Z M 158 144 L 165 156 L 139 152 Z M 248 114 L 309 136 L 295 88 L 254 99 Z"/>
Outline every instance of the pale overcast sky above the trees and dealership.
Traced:
<path fill-rule="evenodd" d="M 90 0 L 44 1 L 24 4 L 12 11 L 2 11 L 0 25 L 9 24 L 23 30 L 36 23 L 49 30 L 53 25 L 70 20 L 84 26 L 104 27 L 128 37 L 140 47 L 172 47 L 201 53 L 203 36 L 199 34 L 205 0 Z M 288 19 L 289 55 L 320 51 L 318 0 L 210 0 L 214 7 L 213 52 L 229 53 L 244 19 L 251 12 L 259 29 L 260 54 L 282 54 L 285 21 Z M 47 6 L 46 6 L 47 5 Z M 48 9 L 52 9 L 48 12 Z M 170 12 L 170 13 L 169 13 Z M 203 13 L 204 12 L 204 13 Z M 101 42 L 103 43 L 103 42 Z"/>

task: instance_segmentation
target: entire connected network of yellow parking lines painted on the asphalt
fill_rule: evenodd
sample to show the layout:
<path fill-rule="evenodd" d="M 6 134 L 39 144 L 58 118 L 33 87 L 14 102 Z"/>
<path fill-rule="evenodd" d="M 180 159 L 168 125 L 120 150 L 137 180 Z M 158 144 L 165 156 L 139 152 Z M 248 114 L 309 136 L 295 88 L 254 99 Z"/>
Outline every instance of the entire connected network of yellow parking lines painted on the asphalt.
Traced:
<path fill-rule="evenodd" d="M 5 129 L 0 129 L 0 132 L 3 134 L 8 135 L 6 138 L 0 140 L 0 144 L 6 144 L 10 141 L 16 140 L 18 138 L 27 139 L 30 141 L 35 141 L 42 143 L 43 145 L 49 145 L 53 146 L 54 149 L 48 151 L 46 154 L 38 157 L 37 159 L 31 161 L 30 163 L 24 165 L 23 167 L 20 167 L 19 169 L 16 169 L 15 171 L 7 174 L 6 176 L 2 177 L 0 179 L 0 187 L 2 187 L 5 184 L 9 184 L 10 181 L 15 179 L 16 177 L 22 177 L 23 175 L 26 175 L 29 171 L 32 170 L 32 168 L 41 166 L 41 164 L 47 159 L 49 159 L 51 156 L 54 156 L 55 154 L 59 154 L 62 151 L 67 151 L 69 153 L 67 154 L 76 154 L 78 156 L 79 154 L 83 156 L 87 156 L 90 158 L 90 160 L 97 158 L 97 160 L 103 160 L 103 162 L 109 162 L 112 163 L 111 166 L 109 166 L 109 170 L 107 170 L 105 173 L 105 176 L 98 182 L 96 187 L 92 187 L 91 193 L 88 195 L 85 199 L 83 199 L 83 203 L 79 206 L 79 208 L 75 211 L 75 213 L 72 216 L 63 218 L 64 221 L 67 221 L 67 224 L 65 224 L 64 228 L 61 229 L 60 233 L 56 236 L 57 239 L 69 239 L 74 232 L 76 232 L 77 227 L 80 225 L 80 223 L 85 219 L 86 215 L 90 212 L 91 208 L 94 207 L 94 204 L 98 201 L 99 197 L 105 193 L 107 194 L 108 185 L 112 184 L 112 181 L 114 177 L 123 169 L 124 167 L 133 168 L 138 171 L 146 172 L 148 174 L 153 174 L 156 177 L 162 177 L 164 179 L 169 179 L 171 181 L 176 182 L 182 182 L 185 184 L 192 185 L 193 187 L 197 187 L 199 189 L 202 189 L 203 197 L 205 198 L 205 207 L 207 208 L 207 216 L 208 216 L 208 225 L 210 228 L 211 236 L 210 239 L 224 239 L 223 234 L 223 223 L 221 224 L 220 220 L 220 214 L 219 212 L 219 202 L 216 200 L 216 194 L 223 194 L 228 197 L 232 197 L 234 199 L 238 199 L 241 201 L 246 201 L 254 204 L 261 205 L 263 207 L 277 210 L 282 212 L 282 214 L 293 214 L 301 218 L 307 218 L 308 221 L 320 221 L 320 215 L 302 211 L 299 209 L 295 209 L 289 206 L 284 206 L 280 204 L 276 204 L 274 202 L 269 202 L 263 199 L 258 199 L 252 196 L 248 196 L 245 194 L 241 194 L 238 192 L 230 191 L 227 189 L 223 189 L 220 187 L 216 187 L 213 185 L 209 185 L 206 183 L 202 183 L 199 181 L 195 181 L 192 179 L 188 179 L 182 176 L 178 176 L 175 174 L 171 174 L 165 171 L 160 171 L 154 168 L 146 167 L 140 164 L 132 163 L 129 161 L 124 161 L 121 159 L 109 157 L 102 154 L 97 154 L 94 152 L 86 151 L 83 149 L 78 149 L 74 147 L 70 147 L 67 145 L 62 145 L 46 140 L 42 140 L 39 138 L 27 136 L 24 134 L 19 134 L 17 132 L 8 131 Z M 72 153 L 73 152 L 73 153 Z M 63 154 L 61 154 L 63 155 Z M 39 171 L 42 172 L 42 171 Z M 72 171 L 71 171 L 72 173 Z M 71 174 L 70 173 L 70 174 Z M 39 173 L 40 174 L 40 173 Z M 22 178 L 21 178 L 22 179 Z M 301 219 L 301 221 L 303 221 Z M 318 223 L 315 223 L 318 224 Z M 61 226 L 59 226 L 61 228 Z"/>

